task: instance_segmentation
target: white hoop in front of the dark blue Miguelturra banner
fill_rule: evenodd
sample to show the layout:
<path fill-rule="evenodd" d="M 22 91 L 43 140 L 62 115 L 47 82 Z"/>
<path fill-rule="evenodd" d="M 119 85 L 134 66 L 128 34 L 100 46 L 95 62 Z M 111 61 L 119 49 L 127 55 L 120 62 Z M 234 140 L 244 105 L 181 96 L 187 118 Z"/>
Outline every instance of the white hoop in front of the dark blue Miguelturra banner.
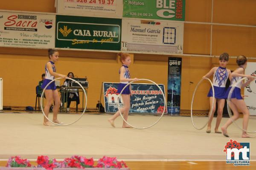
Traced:
<path fill-rule="evenodd" d="M 153 82 L 153 81 L 151 81 L 151 80 L 149 80 L 149 79 L 138 79 L 137 81 L 139 81 L 139 80 L 145 80 L 145 81 L 152 82 L 154 85 L 156 85 L 156 86 L 160 89 L 160 91 L 161 91 L 162 94 L 163 94 L 163 99 L 164 99 L 164 109 L 163 109 L 163 113 L 164 113 L 165 110 L 166 110 L 166 99 L 165 99 L 165 95 L 164 95 L 162 89 L 159 87 L 159 85 L 157 85 L 157 83 L 155 83 L 155 82 Z M 134 82 L 134 81 L 133 81 L 133 82 Z M 135 128 L 135 129 L 147 129 L 147 128 L 152 127 L 152 126 L 154 126 L 155 124 L 157 124 L 157 122 L 159 122 L 159 120 L 163 117 L 163 113 L 162 113 L 162 115 L 160 116 L 160 118 L 159 118 L 156 122 L 154 122 L 152 125 L 150 125 L 150 126 L 148 126 L 148 127 L 135 127 L 135 126 L 131 125 L 130 123 L 128 123 L 128 122 L 124 119 L 124 117 L 122 116 L 122 113 L 121 113 L 121 111 L 120 111 L 119 102 L 120 102 L 121 94 L 122 94 L 122 92 L 125 90 L 125 88 L 126 88 L 128 85 L 130 85 L 131 83 L 133 83 L 133 82 L 129 82 L 127 85 L 125 85 L 125 87 L 124 87 L 124 88 L 122 89 L 122 91 L 120 92 L 120 94 L 119 94 L 119 99 L 118 99 L 118 103 L 117 103 L 117 104 L 118 104 L 118 110 L 119 110 L 119 113 L 120 113 L 120 116 L 122 117 L 122 119 L 123 119 L 123 120 L 125 121 L 125 123 L 127 123 L 129 126 Z"/>

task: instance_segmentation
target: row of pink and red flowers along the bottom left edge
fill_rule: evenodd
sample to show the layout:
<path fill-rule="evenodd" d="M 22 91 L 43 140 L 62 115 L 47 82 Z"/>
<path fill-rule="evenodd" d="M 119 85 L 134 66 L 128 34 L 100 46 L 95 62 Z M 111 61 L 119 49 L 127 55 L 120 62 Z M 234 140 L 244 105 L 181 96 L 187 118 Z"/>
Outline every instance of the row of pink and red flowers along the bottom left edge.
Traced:
<path fill-rule="evenodd" d="M 49 159 L 48 156 L 38 156 L 37 167 L 43 167 L 47 170 L 53 170 L 54 168 L 92 168 L 94 167 L 93 158 L 87 159 L 83 156 L 71 156 L 65 158 L 63 161 L 57 161 L 56 159 Z M 34 167 L 27 159 L 21 159 L 20 156 L 12 156 L 7 161 L 6 167 Z M 116 157 L 103 156 L 98 160 L 97 168 L 122 168 L 127 167 L 124 161 L 118 161 Z"/>

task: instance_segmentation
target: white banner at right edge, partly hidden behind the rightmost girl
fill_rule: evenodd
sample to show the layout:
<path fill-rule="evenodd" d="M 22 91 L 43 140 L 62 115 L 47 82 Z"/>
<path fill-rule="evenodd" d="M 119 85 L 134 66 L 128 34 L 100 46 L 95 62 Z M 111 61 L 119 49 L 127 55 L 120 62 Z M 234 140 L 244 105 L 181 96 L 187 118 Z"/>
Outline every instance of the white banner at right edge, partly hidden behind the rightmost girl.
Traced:
<path fill-rule="evenodd" d="M 256 62 L 247 62 L 245 74 L 256 74 Z M 256 115 L 256 79 L 244 88 L 244 96 L 244 102 L 249 109 L 250 115 Z"/>

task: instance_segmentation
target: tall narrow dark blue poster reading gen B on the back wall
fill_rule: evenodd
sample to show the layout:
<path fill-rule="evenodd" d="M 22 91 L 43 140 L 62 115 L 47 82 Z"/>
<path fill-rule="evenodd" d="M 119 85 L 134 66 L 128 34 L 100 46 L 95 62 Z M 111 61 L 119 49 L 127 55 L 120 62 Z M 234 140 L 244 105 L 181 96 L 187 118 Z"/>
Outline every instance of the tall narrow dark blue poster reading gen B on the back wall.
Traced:
<path fill-rule="evenodd" d="M 168 59 L 167 112 L 172 115 L 180 113 L 181 64 L 182 58 Z"/>

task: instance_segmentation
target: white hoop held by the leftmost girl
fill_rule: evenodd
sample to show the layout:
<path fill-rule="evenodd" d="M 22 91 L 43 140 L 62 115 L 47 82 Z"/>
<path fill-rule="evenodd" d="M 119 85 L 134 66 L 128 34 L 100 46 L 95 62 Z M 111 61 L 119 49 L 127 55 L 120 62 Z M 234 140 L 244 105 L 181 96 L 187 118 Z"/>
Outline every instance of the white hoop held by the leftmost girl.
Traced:
<path fill-rule="evenodd" d="M 45 88 L 44 88 L 44 90 L 43 90 L 43 92 L 42 92 L 42 94 L 41 94 L 41 99 L 43 99 L 42 97 L 44 97 L 44 91 L 46 90 L 46 88 L 47 88 L 52 82 L 54 82 L 55 80 L 58 80 L 58 79 L 62 79 L 62 78 L 59 77 L 59 78 L 53 79 L 52 81 L 50 81 L 50 82 L 45 86 Z M 66 77 L 66 79 L 70 79 L 70 78 Z M 87 94 L 85 93 L 85 90 L 84 90 L 83 86 L 82 86 L 79 82 L 77 82 L 76 80 L 74 80 L 74 79 L 70 79 L 70 80 L 76 82 L 76 83 L 82 88 L 82 90 L 84 91 L 84 96 L 85 96 L 85 107 L 84 107 L 84 111 L 83 111 L 83 113 L 81 114 L 81 116 L 80 116 L 75 122 L 61 125 L 61 124 L 52 122 L 52 121 L 45 115 L 44 109 L 43 109 L 43 102 L 42 102 L 43 100 L 41 100 L 41 108 L 42 108 L 42 112 L 43 112 L 43 114 L 44 114 L 44 117 L 45 117 L 49 122 L 51 122 L 52 124 L 59 125 L 59 126 L 72 125 L 72 124 L 76 123 L 77 121 L 79 121 L 79 119 L 81 119 L 81 117 L 84 115 L 84 112 L 85 112 L 85 110 L 86 110 L 86 108 L 87 108 Z"/>

